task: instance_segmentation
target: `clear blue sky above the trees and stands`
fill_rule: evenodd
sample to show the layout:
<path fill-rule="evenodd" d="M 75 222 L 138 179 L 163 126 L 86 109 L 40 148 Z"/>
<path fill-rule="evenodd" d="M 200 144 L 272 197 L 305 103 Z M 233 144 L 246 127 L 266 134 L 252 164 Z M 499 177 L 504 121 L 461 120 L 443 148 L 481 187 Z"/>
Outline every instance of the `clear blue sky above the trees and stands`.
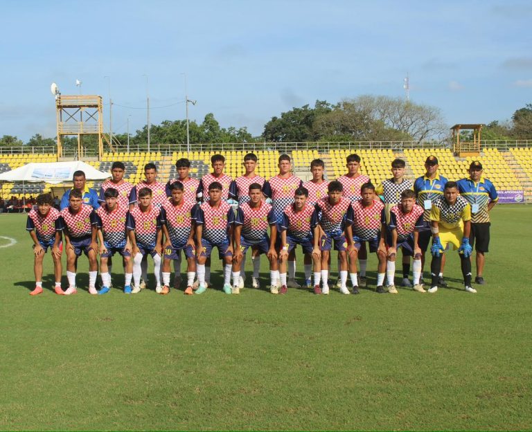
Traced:
<path fill-rule="evenodd" d="M 78 94 L 76 79 L 106 103 L 110 81 L 115 133 L 145 125 L 143 74 L 152 124 L 185 118 L 186 73 L 191 119 L 254 135 L 317 99 L 402 97 L 407 73 L 448 125 L 532 102 L 530 1 L 4 0 L 0 16 L 0 136 L 23 141 L 55 136 L 50 84 Z"/>

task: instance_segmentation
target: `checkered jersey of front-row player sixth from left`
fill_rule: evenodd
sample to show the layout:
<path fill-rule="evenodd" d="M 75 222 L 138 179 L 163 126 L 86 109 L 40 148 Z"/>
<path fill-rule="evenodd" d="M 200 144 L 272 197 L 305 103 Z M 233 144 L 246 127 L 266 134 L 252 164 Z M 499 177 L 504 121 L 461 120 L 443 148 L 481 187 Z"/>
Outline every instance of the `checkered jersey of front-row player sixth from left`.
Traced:
<path fill-rule="evenodd" d="M 209 201 L 197 208 L 196 224 L 203 225 L 202 238 L 212 244 L 220 244 L 229 240 L 229 225 L 234 220 L 234 211 L 227 202 L 220 201 L 215 208 Z"/>

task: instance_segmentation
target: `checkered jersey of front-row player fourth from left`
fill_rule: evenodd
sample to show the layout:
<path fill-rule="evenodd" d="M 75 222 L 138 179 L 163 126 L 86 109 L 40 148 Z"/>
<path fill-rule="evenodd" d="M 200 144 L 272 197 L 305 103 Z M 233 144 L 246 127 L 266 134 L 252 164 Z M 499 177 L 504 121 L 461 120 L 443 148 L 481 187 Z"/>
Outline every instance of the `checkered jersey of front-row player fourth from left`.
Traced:
<path fill-rule="evenodd" d="M 154 249 L 157 243 L 157 232 L 163 224 L 161 207 L 150 206 L 143 212 L 139 206 L 135 206 L 127 212 L 126 228 L 135 231 L 136 244 L 144 249 Z"/>

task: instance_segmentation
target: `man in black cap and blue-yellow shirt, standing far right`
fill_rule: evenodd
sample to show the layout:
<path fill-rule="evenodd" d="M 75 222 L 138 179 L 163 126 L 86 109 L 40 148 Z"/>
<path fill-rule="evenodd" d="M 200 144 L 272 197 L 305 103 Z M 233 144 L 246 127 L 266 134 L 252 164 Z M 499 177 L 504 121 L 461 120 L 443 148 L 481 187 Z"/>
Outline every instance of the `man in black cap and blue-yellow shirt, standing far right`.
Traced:
<path fill-rule="evenodd" d="M 477 276 L 475 283 L 484 285 L 484 255 L 490 244 L 490 215 L 489 211 L 497 204 L 499 195 L 493 183 L 482 177 L 482 164 L 473 161 L 469 165 L 469 179 L 458 181 L 458 190 L 471 206 L 471 233 L 469 241 L 475 246 Z"/>

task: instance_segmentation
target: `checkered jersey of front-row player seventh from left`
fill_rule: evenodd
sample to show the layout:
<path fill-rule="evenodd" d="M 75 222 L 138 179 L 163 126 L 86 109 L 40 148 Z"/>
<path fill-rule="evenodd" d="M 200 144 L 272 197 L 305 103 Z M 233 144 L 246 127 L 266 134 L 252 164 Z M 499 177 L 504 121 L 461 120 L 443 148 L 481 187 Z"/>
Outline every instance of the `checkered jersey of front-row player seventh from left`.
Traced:
<path fill-rule="evenodd" d="M 265 201 L 257 208 L 251 208 L 249 202 L 236 209 L 235 224 L 242 225 L 242 237 L 246 240 L 265 240 L 268 238 L 268 226 L 276 224 L 274 211 Z"/>

